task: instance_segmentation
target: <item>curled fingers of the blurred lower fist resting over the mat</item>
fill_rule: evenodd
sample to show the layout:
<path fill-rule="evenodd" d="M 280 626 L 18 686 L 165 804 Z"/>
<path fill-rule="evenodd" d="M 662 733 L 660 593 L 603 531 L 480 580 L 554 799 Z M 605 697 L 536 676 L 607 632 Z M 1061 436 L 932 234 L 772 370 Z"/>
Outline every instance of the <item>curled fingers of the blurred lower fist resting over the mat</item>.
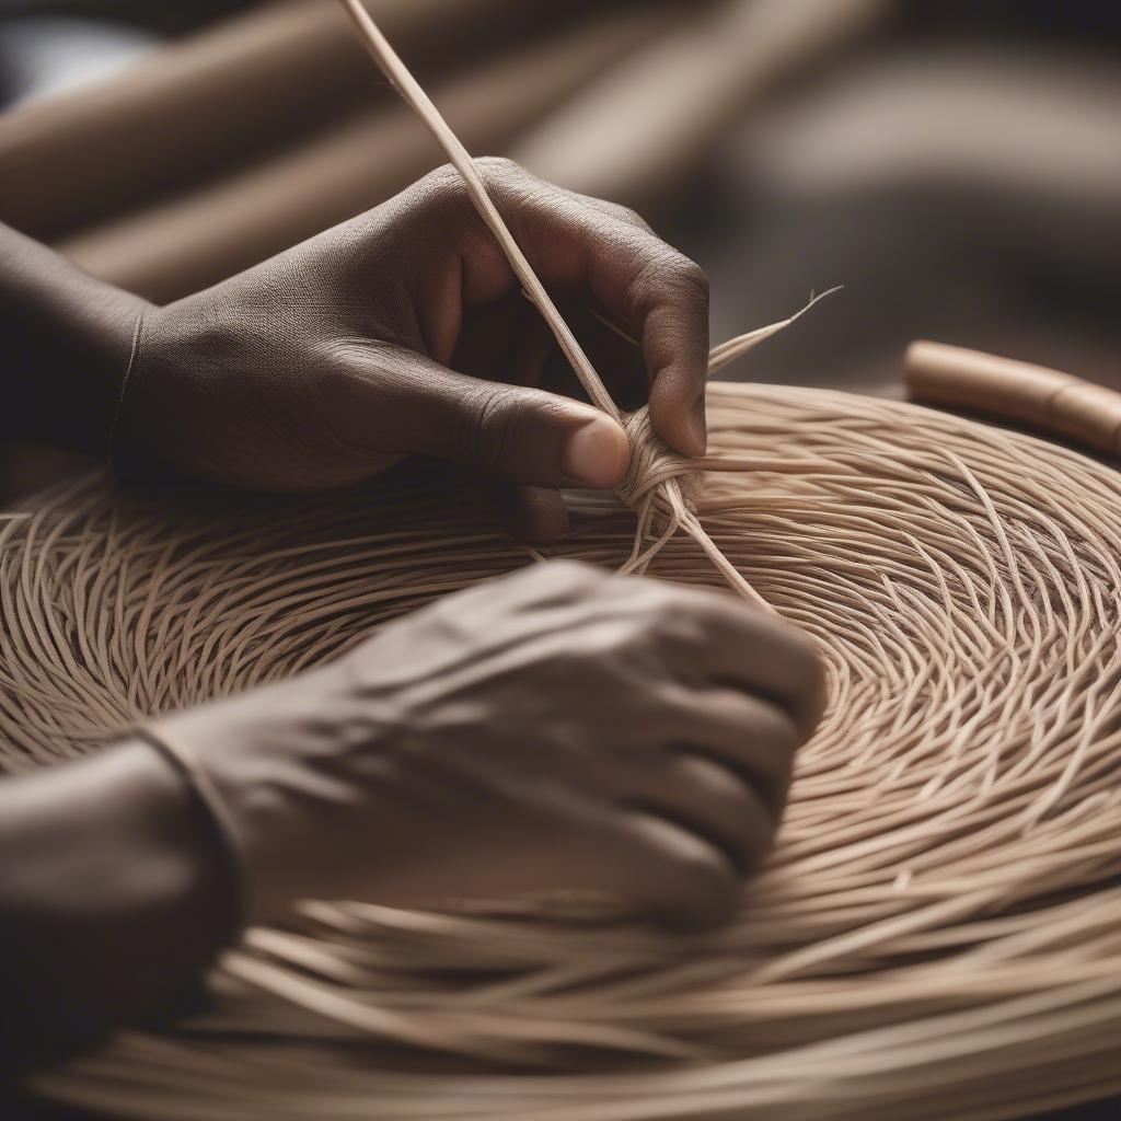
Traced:
<path fill-rule="evenodd" d="M 694 624 L 664 638 L 676 680 L 659 691 L 667 750 L 611 789 L 645 851 L 630 898 L 661 923 L 706 927 L 729 917 L 773 844 L 824 676 L 791 628 L 725 596 L 674 589 L 667 599 L 667 614 Z"/>

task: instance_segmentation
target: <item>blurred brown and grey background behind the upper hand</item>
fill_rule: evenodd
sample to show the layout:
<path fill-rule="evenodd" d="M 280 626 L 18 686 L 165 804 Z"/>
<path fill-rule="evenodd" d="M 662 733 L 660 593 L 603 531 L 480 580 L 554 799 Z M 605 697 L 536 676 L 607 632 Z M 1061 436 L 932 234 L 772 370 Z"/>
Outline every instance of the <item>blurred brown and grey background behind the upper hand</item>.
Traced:
<path fill-rule="evenodd" d="M 476 155 L 639 209 L 733 378 L 932 337 L 1121 387 L 1121 6 L 368 0 Z M 159 302 L 441 163 L 330 0 L 0 0 L 0 219 Z"/>

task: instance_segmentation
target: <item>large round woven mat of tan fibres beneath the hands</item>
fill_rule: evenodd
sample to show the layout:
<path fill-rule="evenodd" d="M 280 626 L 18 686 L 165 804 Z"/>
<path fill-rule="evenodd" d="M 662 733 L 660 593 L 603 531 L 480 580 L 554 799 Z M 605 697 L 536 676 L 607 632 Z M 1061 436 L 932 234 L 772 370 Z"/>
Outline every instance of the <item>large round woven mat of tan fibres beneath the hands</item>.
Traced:
<path fill-rule="evenodd" d="M 145 1121 L 980 1121 L 1121 1092 L 1118 476 L 912 405 L 710 401 L 696 516 L 830 687 L 731 925 L 307 901 L 197 1011 L 36 1092 Z M 624 564 L 633 512 L 573 501 L 550 552 Z M 537 563 L 420 470 L 221 506 L 85 479 L 7 516 L 0 548 L 9 772 Z M 649 572 L 732 594 L 684 535 Z"/>

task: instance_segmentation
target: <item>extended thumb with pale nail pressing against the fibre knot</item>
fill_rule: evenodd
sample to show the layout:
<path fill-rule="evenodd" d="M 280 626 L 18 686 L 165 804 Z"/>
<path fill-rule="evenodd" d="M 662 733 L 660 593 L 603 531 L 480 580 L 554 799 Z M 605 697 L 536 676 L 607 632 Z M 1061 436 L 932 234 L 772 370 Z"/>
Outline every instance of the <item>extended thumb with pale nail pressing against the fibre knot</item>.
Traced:
<path fill-rule="evenodd" d="M 535 487 L 608 488 L 630 462 L 623 429 L 599 409 L 541 389 L 484 381 L 421 354 L 391 400 L 395 451 Z"/>

